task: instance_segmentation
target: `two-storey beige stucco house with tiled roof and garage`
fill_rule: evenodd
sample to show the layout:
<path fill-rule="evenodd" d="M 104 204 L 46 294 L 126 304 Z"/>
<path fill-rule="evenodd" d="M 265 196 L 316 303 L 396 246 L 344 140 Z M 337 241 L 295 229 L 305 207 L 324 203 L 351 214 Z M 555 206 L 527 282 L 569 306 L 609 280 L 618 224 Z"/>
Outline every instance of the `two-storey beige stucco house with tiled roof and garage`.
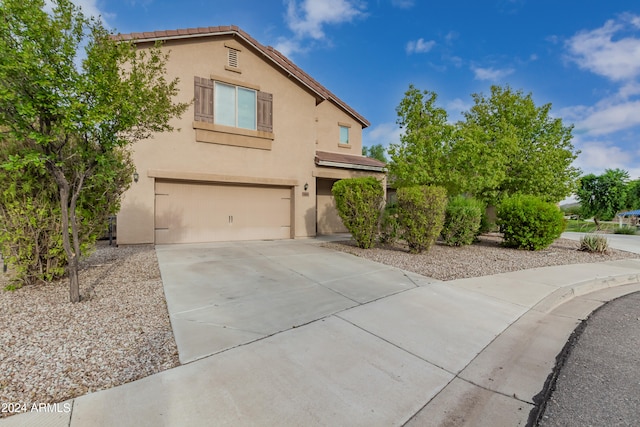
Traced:
<path fill-rule="evenodd" d="M 374 176 L 361 155 L 369 122 L 271 47 L 237 27 L 120 36 L 163 42 L 179 131 L 133 147 L 137 182 L 124 194 L 118 243 L 291 239 L 345 231 L 336 180 Z M 385 182 L 383 182 L 383 185 Z"/>

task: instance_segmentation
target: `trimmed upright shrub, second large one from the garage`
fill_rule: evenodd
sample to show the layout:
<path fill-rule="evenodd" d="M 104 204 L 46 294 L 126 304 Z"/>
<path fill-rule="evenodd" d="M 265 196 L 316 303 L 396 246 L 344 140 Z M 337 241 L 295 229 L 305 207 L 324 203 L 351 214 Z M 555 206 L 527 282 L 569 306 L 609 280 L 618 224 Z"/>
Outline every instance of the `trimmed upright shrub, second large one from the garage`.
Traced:
<path fill-rule="evenodd" d="M 398 189 L 398 222 L 411 253 L 429 250 L 444 225 L 447 190 L 436 186 Z"/>

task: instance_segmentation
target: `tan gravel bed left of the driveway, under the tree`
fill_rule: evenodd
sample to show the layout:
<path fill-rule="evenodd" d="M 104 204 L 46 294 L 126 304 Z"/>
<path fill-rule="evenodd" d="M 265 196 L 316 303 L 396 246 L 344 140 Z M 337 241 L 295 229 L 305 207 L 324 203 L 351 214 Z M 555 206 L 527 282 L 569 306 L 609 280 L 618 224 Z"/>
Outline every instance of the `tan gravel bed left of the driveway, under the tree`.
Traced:
<path fill-rule="evenodd" d="M 80 283 L 78 304 L 67 280 L 0 290 L 0 403 L 62 402 L 179 365 L 153 246 L 99 242 Z"/>

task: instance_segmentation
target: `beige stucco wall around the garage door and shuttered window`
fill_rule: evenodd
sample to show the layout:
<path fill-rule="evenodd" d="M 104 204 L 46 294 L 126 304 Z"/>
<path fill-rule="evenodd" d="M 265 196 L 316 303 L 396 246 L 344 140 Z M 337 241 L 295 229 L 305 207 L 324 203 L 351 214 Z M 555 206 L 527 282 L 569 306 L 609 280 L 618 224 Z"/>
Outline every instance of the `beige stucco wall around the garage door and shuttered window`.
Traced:
<path fill-rule="evenodd" d="M 225 43 L 239 49 L 241 72 L 229 71 L 226 67 L 228 49 Z M 220 129 L 210 124 L 202 126 L 194 122 L 194 106 L 191 105 L 172 123 L 176 131 L 136 143 L 133 160 L 140 179 L 132 183 L 123 196 L 118 214 L 118 243 L 154 242 L 156 179 L 289 187 L 292 189 L 292 237 L 314 236 L 318 169 L 314 163 L 315 151 L 359 155 L 362 126 L 330 101 L 316 105 L 316 96 L 308 88 L 274 67 L 240 38 L 215 36 L 169 40 L 163 49 L 170 51 L 167 78 L 180 79 L 177 101 L 192 102 L 195 76 L 268 92 L 273 94 L 273 133 Z M 338 123 L 352 126 L 351 149 L 338 147 Z M 306 191 L 305 184 L 308 184 Z"/>

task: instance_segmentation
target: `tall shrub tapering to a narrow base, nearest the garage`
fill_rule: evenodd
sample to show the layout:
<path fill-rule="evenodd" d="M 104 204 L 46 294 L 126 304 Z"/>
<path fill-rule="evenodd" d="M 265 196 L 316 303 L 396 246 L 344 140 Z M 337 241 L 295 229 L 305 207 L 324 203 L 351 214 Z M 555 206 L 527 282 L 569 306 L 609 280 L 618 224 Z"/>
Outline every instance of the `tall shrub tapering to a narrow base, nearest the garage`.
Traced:
<path fill-rule="evenodd" d="M 331 189 L 338 214 L 361 248 L 371 248 L 376 241 L 384 188 L 373 177 L 342 179 Z"/>

